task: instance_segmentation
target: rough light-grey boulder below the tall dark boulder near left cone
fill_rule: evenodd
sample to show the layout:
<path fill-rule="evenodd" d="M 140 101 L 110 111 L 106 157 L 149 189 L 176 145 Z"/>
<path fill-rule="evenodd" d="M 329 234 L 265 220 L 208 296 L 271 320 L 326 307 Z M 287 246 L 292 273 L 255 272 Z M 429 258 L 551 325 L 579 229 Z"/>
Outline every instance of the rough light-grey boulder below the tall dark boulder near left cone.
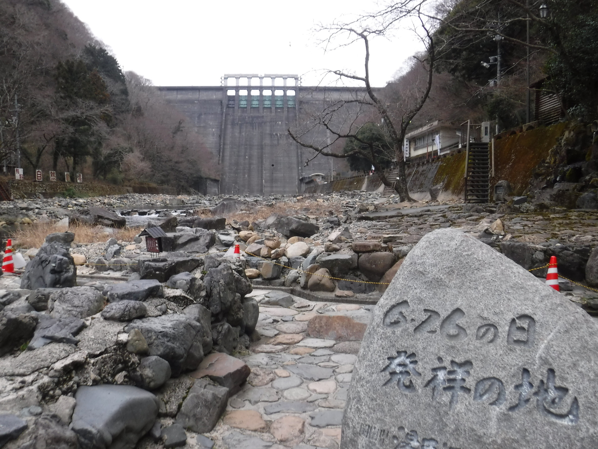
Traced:
<path fill-rule="evenodd" d="M 87 318 L 95 315 L 104 305 L 104 297 L 93 287 L 56 289 L 48 299 L 48 313 L 52 318 Z"/>

